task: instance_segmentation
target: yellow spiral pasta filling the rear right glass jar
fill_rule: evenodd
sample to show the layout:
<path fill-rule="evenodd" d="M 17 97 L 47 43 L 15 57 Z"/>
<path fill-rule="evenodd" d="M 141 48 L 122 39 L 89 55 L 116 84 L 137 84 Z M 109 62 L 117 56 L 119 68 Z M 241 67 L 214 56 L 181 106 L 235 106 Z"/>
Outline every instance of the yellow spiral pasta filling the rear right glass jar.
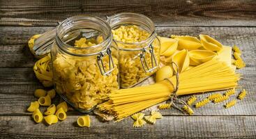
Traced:
<path fill-rule="evenodd" d="M 146 42 L 146 39 L 151 35 L 149 32 L 139 26 L 128 25 L 113 29 L 112 34 L 120 48 L 119 74 L 121 88 L 128 88 L 140 83 L 146 77 L 151 76 L 153 72 L 156 72 L 156 70 L 146 72 L 151 67 L 157 67 L 160 58 L 160 44 L 158 44 L 158 41 L 155 39 L 152 42 Z M 145 48 L 144 53 L 141 50 L 135 51 L 138 48 Z M 153 61 L 153 57 L 156 61 Z"/>

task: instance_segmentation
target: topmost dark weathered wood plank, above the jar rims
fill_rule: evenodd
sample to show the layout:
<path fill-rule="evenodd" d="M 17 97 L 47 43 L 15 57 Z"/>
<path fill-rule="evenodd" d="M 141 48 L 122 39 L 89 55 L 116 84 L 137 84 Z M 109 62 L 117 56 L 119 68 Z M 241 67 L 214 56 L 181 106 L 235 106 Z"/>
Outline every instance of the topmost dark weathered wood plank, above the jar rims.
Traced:
<path fill-rule="evenodd" d="M 142 13 L 158 26 L 256 26 L 255 1 L 1 1 L 1 26 L 56 26 L 73 15 Z"/>

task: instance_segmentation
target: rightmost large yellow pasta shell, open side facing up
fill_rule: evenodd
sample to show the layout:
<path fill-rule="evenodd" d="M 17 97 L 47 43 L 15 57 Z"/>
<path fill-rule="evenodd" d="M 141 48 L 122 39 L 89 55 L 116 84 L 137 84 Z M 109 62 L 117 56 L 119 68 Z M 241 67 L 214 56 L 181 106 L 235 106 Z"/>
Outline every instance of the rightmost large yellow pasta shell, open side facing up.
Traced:
<path fill-rule="evenodd" d="M 199 35 L 202 46 L 206 50 L 210 51 L 221 51 L 223 49 L 223 44 L 218 42 L 217 40 L 211 38 L 209 35 Z"/>

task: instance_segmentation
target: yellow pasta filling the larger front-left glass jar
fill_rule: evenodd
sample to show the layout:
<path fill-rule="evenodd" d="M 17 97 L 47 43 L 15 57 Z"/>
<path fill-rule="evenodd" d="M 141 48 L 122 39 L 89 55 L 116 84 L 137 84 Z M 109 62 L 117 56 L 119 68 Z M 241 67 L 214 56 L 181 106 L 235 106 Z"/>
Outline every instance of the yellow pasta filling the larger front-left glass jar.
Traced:
<path fill-rule="evenodd" d="M 75 47 L 92 47 L 103 41 L 103 38 L 80 38 L 75 41 Z M 84 51 L 84 49 L 74 49 Z M 93 106 L 102 102 L 110 90 L 119 88 L 118 84 L 118 60 L 112 56 L 114 70 L 109 76 L 100 73 L 97 56 L 70 56 L 58 53 L 53 60 L 54 83 L 57 92 L 65 95 L 77 108 L 90 110 Z M 108 67 L 109 58 L 103 58 L 105 69 Z"/>

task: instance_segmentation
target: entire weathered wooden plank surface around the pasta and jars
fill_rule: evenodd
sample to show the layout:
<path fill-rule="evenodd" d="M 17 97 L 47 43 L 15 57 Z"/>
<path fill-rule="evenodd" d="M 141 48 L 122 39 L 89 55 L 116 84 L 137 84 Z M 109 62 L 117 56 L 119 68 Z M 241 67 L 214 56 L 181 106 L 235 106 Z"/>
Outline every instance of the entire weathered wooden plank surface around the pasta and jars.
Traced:
<path fill-rule="evenodd" d="M 156 124 L 133 128 L 133 120 L 100 122 L 91 116 L 91 128 L 77 127 L 80 115 L 52 126 L 35 124 L 27 106 L 33 91 L 43 88 L 33 73 L 36 59 L 27 42 L 67 17 L 79 14 L 105 18 L 120 12 L 142 13 L 156 24 L 158 35 L 208 34 L 225 45 L 238 45 L 247 67 L 238 70 L 243 101 L 232 108 L 209 104 L 187 116 L 161 111 Z M 256 138 L 256 1 L 0 1 L 0 138 Z M 198 95 L 205 97 L 208 94 Z M 185 97 L 183 97 L 185 99 Z"/>

